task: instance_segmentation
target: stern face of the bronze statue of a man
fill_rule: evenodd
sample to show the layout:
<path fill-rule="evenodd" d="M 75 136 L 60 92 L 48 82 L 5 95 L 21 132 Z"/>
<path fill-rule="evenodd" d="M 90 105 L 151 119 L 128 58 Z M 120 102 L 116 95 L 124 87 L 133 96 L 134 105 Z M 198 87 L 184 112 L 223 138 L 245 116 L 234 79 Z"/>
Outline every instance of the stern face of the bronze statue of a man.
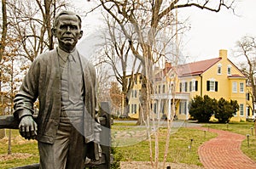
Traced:
<path fill-rule="evenodd" d="M 75 48 L 79 39 L 83 36 L 79 26 L 79 19 L 76 15 L 63 14 L 53 29 L 53 34 L 57 37 L 59 47 L 67 52 Z"/>

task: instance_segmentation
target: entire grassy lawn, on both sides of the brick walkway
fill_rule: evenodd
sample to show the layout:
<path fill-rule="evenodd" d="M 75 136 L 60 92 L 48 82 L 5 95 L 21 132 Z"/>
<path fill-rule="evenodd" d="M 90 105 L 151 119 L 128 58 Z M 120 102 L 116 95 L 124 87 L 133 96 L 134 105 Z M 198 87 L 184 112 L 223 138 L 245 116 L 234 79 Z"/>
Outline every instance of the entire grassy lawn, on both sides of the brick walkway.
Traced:
<path fill-rule="evenodd" d="M 205 127 L 216 128 L 219 130 L 225 130 L 230 132 L 240 133 L 242 135 L 251 135 L 251 127 L 253 122 L 240 122 L 226 124 L 210 123 L 204 124 Z M 119 142 L 127 142 L 131 139 L 129 137 L 135 137 L 134 130 L 138 129 L 133 122 L 119 122 L 113 124 L 113 132 L 127 132 L 127 135 L 121 135 Z M 143 130 L 143 128 L 140 128 Z M 8 131 L 8 130 L 7 130 Z M 167 161 L 176 163 L 186 163 L 201 166 L 197 149 L 201 144 L 211 138 L 215 138 L 217 134 L 212 132 L 204 132 L 188 127 L 172 128 L 172 135 L 170 140 L 170 148 L 168 151 Z M 8 132 L 7 132 L 8 133 Z M 160 128 L 159 130 L 159 147 L 160 147 L 160 161 L 163 161 L 164 149 L 166 144 L 166 128 Z M 254 134 L 254 133 L 253 133 Z M 2 155 L 6 155 L 8 151 L 8 139 L 4 138 L 0 140 L 0 166 L 1 169 L 7 169 L 15 166 L 26 166 L 33 163 L 38 163 L 38 145 L 35 141 L 27 141 L 20 138 L 17 130 L 12 130 L 12 153 L 27 153 L 31 154 L 26 159 L 10 159 L 3 160 Z M 128 138 L 125 138 L 128 137 Z M 113 137 L 113 143 L 115 141 Z M 191 146 L 191 139 L 192 146 Z M 250 146 L 247 146 L 247 139 L 241 144 L 242 151 L 256 161 L 256 138 L 255 136 L 249 137 Z M 152 136 L 152 144 L 154 147 L 154 136 Z M 191 149 L 189 149 L 191 146 Z M 115 151 L 121 155 L 121 161 L 150 161 L 149 153 L 149 141 L 144 138 L 135 144 L 127 144 L 127 146 L 117 146 L 114 148 Z M 154 149 L 153 149 L 154 152 Z M 153 156 L 154 157 L 154 156 Z"/>

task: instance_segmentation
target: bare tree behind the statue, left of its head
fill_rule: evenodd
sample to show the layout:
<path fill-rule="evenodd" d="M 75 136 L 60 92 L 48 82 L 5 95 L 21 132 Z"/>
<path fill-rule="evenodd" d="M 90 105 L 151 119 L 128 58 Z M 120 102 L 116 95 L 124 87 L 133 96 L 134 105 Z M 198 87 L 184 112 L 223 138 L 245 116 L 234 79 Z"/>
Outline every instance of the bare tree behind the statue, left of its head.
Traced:
<path fill-rule="evenodd" d="M 9 0 L 9 25 L 12 34 L 20 39 L 20 55 L 33 61 L 38 54 L 54 48 L 52 21 L 65 6 L 64 0 Z"/>

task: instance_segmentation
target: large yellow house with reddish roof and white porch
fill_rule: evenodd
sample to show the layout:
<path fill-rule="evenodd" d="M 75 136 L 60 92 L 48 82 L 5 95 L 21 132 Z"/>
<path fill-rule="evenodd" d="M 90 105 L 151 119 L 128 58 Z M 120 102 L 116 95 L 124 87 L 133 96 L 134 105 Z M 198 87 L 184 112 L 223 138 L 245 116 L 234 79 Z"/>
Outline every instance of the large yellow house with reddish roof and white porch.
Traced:
<path fill-rule="evenodd" d="M 237 100 L 240 109 L 231 121 L 246 121 L 253 118 L 249 90 L 246 76 L 228 59 L 227 50 L 221 49 L 218 58 L 176 66 L 166 63 L 155 78 L 152 108 L 158 117 L 175 114 L 187 120 L 189 101 L 195 95 L 208 95 Z"/>

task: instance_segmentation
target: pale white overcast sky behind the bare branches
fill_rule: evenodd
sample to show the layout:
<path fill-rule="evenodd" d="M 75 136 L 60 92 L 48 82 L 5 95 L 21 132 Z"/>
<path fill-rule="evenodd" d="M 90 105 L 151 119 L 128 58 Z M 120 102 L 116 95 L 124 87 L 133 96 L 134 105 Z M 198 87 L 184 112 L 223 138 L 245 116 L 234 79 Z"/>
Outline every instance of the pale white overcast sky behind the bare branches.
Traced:
<path fill-rule="evenodd" d="M 81 11 L 88 11 L 90 5 L 83 0 L 78 1 Z M 256 36 L 256 0 L 238 0 L 236 14 L 223 8 L 219 13 L 199 8 L 184 8 L 178 12 L 178 18 L 189 18 L 191 29 L 183 35 L 183 56 L 189 62 L 218 57 L 219 49 L 227 49 L 229 58 L 236 42 L 244 36 Z M 101 14 L 89 14 L 84 17 L 84 37 L 95 34 L 101 28 L 98 18 Z"/>

